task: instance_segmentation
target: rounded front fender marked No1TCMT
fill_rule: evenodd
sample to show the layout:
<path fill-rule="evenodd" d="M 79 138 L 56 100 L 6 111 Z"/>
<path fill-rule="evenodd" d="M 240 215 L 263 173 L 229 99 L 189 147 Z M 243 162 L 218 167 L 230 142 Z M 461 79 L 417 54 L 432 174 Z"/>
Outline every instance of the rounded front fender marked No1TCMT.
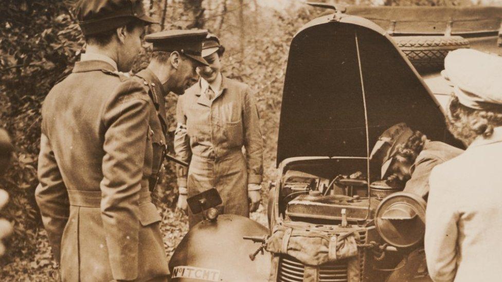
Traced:
<path fill-rule="evenodd" d="M 269 253 L 249 254 L 260 243 L 243 236 L 266 236 L 268 229 L 239 215 L 220 215 L 204 220 L 185 235 L 169 261 L 173 281 L 267 281 L 271 270 Z"/>

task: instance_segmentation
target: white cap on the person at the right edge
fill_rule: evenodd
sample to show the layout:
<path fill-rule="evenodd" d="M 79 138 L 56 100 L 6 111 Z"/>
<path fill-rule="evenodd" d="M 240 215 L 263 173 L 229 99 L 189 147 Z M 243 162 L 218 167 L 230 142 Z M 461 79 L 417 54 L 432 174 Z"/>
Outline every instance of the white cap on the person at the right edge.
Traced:
<path fill-rule="evenodd" d="M 446 55 L 442 74 L 462 105 L 473 109 L 502 105 L 502 57 L 473 49 L 454 50 Z"/>

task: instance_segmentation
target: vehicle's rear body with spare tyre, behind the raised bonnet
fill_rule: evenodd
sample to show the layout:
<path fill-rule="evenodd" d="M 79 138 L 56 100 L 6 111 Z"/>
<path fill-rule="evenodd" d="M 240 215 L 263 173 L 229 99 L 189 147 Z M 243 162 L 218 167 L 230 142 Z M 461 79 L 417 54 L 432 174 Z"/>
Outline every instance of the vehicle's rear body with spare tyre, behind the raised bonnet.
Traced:
<path fill-rule="evenodd" d="M 502 55 L 502 7 L 349 6 L 346 13 L 379 25 L 413 59 L 435 61 L 437 67 L 419 71 L 443 108 L 452 92 L 440 74 L 448 51 L 471 48 Z M 454 37 L 456 40 L 452 41 Z"/>

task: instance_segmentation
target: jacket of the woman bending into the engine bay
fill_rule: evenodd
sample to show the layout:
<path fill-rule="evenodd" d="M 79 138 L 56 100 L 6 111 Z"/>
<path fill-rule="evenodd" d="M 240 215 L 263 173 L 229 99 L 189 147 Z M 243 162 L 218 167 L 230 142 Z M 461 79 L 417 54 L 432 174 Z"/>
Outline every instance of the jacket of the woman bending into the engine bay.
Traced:
<path fill-rule="evenodd" d="M 406 182 L 404 191 L 427 197 L 429 176 L 432 169 L 447 160 L 462 154 L 463 150 L 439 141 L 425 141 L 422 152 L 411 166 L 411 179 Z"/>

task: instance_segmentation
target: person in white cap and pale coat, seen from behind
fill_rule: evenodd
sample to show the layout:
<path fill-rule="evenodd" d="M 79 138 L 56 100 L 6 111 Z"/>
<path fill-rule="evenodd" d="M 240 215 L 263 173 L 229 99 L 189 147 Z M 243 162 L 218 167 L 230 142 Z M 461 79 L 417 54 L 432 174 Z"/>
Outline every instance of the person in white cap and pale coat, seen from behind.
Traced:
<path fill-rule="evenodd" d="M 442 72 L 454 86 L 446 123 L 467 150 L 429 179 L 425 254 L 435 281 L 502 278 L 502 58 L 450 52 Z"/>

